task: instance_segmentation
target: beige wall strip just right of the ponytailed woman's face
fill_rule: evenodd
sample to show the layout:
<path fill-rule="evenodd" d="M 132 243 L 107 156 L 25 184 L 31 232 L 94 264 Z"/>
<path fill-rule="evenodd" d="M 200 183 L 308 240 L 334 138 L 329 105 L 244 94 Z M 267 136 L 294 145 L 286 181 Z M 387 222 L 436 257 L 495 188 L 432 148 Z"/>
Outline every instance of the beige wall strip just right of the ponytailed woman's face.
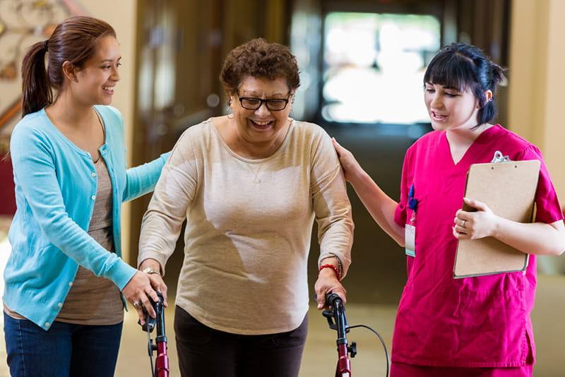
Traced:
<path fill-rule="evenodd" d="M 134 84 L 135 84 L 135 47 L 136 47 L 136 0 L 97 0 L 83 1 L 85 11 L 90 16 L 102 18 L 116 30 L 121 46 L 120 82 L 114 92 L 112 106 L 119 109 L 124 116 L 126 126 L 126 147 L 128 148 L 128 161 L 131 162 L 133 150 L 133 109 L 134 109 Z M 124 204 L 121 215 L 122 232 L 121 244 L 123 256 L 126 261 L 129 257 L 129 229 L 131 205 Z M 129 262 L 129 261 L 128 261 Z"/>

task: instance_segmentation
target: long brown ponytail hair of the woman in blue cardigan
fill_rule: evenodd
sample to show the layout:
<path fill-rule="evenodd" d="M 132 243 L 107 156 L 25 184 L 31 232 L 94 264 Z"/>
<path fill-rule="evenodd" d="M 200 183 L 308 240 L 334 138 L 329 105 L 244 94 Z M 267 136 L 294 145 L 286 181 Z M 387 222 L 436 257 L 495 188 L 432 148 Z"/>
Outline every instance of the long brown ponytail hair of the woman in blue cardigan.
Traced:
<path fill-rule="evenodd" d="M 64 83 L 65 61 L 81 68 L 95 53 L 98 41 L 108 35 L 116 37 L 116 32 L 105 21 L 76 16 L 59 23 L 48 40 L 32 44 L 22 64 L 23 116 L 53 102 L 52 89 L 60 90 Z"/>

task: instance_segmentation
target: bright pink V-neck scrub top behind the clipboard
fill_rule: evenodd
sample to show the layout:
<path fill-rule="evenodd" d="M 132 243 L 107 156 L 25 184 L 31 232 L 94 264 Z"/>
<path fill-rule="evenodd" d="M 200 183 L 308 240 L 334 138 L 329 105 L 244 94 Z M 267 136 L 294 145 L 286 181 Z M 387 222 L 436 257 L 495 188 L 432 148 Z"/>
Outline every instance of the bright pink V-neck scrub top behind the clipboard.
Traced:
<path fill-rule="evenodd" d="M 393 334 L 392 360 L 425 366 L 508 367 L 535 362 L 530 321 L 536 259 L 525 273 L 453 279 L 457 239 L 451 227 L 463 204 L 470 164 L 491 162 L 499 150 L 511 160 L 540 160 L 536 222 L 563 219 L 557 193 L 535 145 L 496 125 L 480 134 L 457 164 L 446 133 L 432 131 L 406 152 L 395 221 L 404 227 L 415 213 L 415 257 L 407 256 L 408 280 Z M 501 188 L 501 189 L 504 189 Z M 528 361 L 527 361 L 528 360 Z"/>

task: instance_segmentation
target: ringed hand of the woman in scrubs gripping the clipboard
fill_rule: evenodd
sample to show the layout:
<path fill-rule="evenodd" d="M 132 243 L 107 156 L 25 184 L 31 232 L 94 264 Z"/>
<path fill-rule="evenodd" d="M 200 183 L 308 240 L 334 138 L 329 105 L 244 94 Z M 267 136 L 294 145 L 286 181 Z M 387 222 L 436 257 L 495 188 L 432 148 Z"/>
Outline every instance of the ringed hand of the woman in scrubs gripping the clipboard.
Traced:
<path fill-rule="evenodd" d="M 499 217 L 492 213 L 490 208 L 480 202 L 463 198 L 465 204 L 476 208 L 476 212 L 458 210 L 453 220 L 453 236 L 456 239 L 480 239 L 492 237 L 496 232 Z"/>

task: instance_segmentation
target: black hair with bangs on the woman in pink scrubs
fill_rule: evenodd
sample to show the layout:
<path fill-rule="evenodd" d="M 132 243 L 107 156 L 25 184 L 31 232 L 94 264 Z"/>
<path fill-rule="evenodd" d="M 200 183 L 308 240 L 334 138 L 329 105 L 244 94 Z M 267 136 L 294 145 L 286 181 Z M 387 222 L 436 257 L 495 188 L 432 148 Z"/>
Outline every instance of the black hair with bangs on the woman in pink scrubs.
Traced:
<path fill-rule="evenodd" d="M 478 127 L 496 116 L 494 95 L 503 79 L 504 68 L 493 63 L 480 48 L 457 42 L 439 50 L 429 62 L 424 74 L 424 87 L 426 83 L 433 83 L 460 92 L 470 90 L 479 102 Z M 489 102 L 484 95 L 486 90 L 492 91 L 492 100 Z"/>

